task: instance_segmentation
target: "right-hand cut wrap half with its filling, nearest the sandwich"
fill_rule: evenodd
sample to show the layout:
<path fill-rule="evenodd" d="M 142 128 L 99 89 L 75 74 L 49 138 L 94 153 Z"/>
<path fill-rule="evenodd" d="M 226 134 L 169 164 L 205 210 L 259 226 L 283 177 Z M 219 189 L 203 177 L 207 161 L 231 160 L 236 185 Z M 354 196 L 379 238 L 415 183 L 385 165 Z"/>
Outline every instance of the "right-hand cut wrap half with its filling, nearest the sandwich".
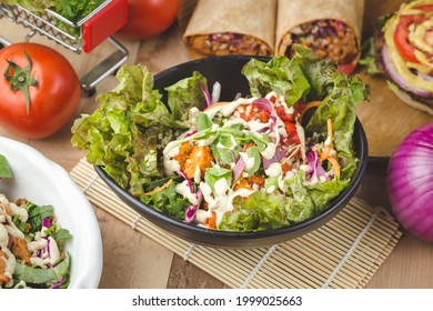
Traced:
<path fill-rule="evenodd" d="M 275 53 L 292 54 L 292 43 L 311 48 L 351 73 L 361 56 L 364 0 L 279 0 Z"/>

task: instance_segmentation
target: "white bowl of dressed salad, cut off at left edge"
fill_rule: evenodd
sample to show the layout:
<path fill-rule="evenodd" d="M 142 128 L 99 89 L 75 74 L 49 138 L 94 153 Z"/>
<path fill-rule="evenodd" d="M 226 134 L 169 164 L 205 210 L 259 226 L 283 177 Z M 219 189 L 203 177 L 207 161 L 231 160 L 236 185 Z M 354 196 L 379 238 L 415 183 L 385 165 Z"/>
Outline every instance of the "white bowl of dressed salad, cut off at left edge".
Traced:
<path fill-rule="evenodd" d="M 0 288 L 98 288 L 101 234 L 83 192 L 24 143 L 0 137 Z"/>

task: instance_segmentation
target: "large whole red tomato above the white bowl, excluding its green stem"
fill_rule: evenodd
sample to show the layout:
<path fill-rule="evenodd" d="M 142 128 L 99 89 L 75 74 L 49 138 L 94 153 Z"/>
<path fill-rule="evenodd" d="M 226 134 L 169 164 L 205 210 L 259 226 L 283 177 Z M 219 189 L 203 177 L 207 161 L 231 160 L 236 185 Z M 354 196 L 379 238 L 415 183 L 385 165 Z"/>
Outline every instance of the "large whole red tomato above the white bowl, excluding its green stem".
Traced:
<path fill-rule="evenodd" d="M 17 67 L 10 67 L 11 62 Z M 13 90 L 8 81 L 12 74 L 17 77 L 18 68 L 29 69 L 28 77 L 37 81 L 23 88 L 29 92 L 29 102 L 22 89 Z M 80 103 L 75 71 L 62 54 L 46 46 L 16 43 L 1 49 L 0 73 L 0 127 L 11 132 L 31 139 L 47 138 L 71 119 Z"/>

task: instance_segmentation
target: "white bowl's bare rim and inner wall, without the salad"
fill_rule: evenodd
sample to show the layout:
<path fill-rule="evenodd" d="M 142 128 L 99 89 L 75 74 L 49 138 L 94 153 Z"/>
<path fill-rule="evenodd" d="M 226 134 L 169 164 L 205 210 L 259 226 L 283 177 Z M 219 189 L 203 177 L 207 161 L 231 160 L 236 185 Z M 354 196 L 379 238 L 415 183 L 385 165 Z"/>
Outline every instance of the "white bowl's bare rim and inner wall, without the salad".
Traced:
<path fill-rule="evenodd" d="M 50 204 L 59 223 L 72 239 L 66 244 L 71 255 L 70 289 L 95 289 L 102 273 L 102 241 L 92 205 L 69 173 L 33 148 L 0 137 L 0 154 L 12 170 L 12 179 L 0 181 L 9 200 L 26 198 Z"/>

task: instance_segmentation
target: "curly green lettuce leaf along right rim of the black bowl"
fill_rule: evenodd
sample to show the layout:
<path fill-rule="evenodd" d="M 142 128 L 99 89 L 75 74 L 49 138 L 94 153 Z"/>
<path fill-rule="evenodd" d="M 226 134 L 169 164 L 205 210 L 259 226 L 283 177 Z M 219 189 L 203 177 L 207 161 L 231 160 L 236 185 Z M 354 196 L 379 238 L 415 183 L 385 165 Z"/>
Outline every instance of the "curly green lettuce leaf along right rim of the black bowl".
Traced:
<path fill-rule="evenodd" d="M 349 179 L 356 169 L 353 152 L 353 131 L 356 120 L 355 108 L 362 101 L 370 100 L 370 88 L 359 76 L 353 78 L 336 70 L 334 62 L 321 60 L 311 50 L 295 46 L 296 57 L 312 89 L 309 97 L 321 100 L 314 114 L 306 123 L 309 134 L 326 134 L 326 120 L 332 120 L 334 148 L 339 152 L 342 165 L 341 179 Z"/>

